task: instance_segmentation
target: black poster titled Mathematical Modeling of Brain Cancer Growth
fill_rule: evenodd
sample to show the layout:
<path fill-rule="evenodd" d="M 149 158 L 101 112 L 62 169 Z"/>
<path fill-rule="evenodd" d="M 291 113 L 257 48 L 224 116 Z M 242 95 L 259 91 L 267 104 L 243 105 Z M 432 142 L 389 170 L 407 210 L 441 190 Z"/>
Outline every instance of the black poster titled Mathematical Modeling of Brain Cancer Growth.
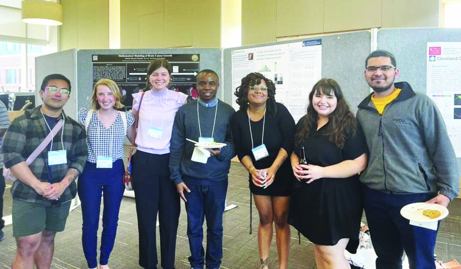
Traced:
<path fill-rule="evenodd" d="M 173 67 L 170 90 L 198 97 L 195 76 L 200 70 L 200 54 L 97 54 L 92 55 L 93 84 L 101 78 L 115 81 L 122 91 L 122 103 L 130 110 L 132 93 L 146 88 L 147 66 L 152 60 L 166 59 Z"/>

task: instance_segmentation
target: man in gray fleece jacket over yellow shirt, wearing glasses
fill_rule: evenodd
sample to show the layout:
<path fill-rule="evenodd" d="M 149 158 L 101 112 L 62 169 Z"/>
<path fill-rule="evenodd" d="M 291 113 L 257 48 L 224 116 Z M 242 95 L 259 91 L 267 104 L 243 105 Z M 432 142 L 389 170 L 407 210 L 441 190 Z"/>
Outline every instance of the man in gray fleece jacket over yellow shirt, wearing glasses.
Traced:
<path fill-rule="evenodd" d="M 373 51 L 365 67 L 373 93 L 357 112 L 370 151 L 360 181 L 376 269 L 401 269 L 403 250 L 411 269 L 433 269 L 437 230 L 410 223 L 400 209 L 413 202 L 446 207 L 458 195 L 453 146 L 435 103 L 394 83 L 399 70 L 390 52 Z"/>

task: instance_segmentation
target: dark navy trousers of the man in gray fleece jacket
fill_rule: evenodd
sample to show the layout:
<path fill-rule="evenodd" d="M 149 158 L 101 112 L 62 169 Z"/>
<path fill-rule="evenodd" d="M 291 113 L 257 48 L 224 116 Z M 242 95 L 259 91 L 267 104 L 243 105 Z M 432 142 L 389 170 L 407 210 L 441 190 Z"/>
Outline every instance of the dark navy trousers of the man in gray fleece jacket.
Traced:
<path fill-rule="evenodd" d="M 435 193 L 387 194 L 362 188 L 363 204 L 376 259 L 376 269 L 401 269 L 403 250 L 411 269 L 435 269 L 437 231 L 409 224 L 400 209 L 409 203 L 426 202 Z M 440 225 L 440 222 L 439 222 Z"/>

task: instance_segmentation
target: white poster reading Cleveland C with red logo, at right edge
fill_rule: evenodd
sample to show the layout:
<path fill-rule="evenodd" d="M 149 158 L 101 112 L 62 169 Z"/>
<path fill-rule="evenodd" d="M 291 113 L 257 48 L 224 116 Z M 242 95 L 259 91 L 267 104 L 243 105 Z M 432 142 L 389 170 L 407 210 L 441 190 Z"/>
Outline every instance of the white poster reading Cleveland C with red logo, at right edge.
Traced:
<path fill-rule="evenodd" d="M 428 42 L 426 56 L 426 94 L 437 104 L 461 157 L 461 42 Z"/>

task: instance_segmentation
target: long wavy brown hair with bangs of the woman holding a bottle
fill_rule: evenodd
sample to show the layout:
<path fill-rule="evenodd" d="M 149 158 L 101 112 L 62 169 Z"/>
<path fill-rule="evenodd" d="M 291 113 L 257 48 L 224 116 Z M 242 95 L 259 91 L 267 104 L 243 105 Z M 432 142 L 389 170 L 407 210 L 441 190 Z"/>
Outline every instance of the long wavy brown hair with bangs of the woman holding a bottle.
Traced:
<path fill-rule="evenodd" d="M 347 135 L 354 135 L 357 131 L 357 120 L 349 109 L 338 83 L 330 78 L 323 78 L 312 87 L 312 91 L 309 93 L 309 105 L 307 106 L 307 114 L 304 117 L 304 125 L 295 135 L 296 144 L 301 144 L 308 137 L 312 127 L 317 123 L 318 114 L 312 105 L 312 97 L 317 93 L 334 93 L 334 96 L 338 100 L 336 109 L 328 116 L 329 125 L 325 135 L 338 148 L 343 148 Z"/>

